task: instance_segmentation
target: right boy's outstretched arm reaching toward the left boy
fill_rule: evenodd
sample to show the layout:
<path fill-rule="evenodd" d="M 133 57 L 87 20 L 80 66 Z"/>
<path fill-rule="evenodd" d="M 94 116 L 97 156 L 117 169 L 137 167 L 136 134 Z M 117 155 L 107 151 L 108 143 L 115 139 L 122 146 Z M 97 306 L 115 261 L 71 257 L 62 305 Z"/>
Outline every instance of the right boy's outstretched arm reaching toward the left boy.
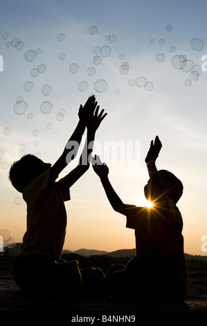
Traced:
<path fill-rule="evenodd" d="M 105 189 L 105 193 L 107 195 L 107 198 L 111 206 L 114 208 L 116 212 L 126 215 L 126 209 L 131 205 L 124 204 L 122 200 L 119 198 L 118 194 L 116 194 L 114 188 L 111 186 L 111 182 L 109 181 L 108 178 L 108 174 L 109 174 L 108 166 L 100 161 L 100 157 L 98 155 L 92 157 L 92 165 L 93 165 L 93 170 L 100 178 L 100 182 L 102 183 L 102 186 Z"/>

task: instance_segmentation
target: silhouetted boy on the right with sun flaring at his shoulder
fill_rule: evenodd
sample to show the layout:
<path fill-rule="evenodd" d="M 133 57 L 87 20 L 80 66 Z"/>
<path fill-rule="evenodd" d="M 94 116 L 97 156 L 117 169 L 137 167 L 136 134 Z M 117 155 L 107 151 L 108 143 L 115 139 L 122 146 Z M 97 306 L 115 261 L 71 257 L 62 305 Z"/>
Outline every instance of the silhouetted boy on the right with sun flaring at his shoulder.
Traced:
<path fill-rule="evenodd" d="M 116 212 L 127 216 L 127 228 L 135 230 L 136 257 L 122 271 L 108 273 L 102 291 L 120 297 L 183 300 L 188 288 L 186 259 L 183 253 L 183 221 L 176 204 L 183 193 L 181 181 L 166 170 L 157 171 L 156 158 L 161 141 L 151 141 L 145 162 L 150 180 L 144 187 L 149 207 L 126 205 L 120 200 L 108 179 L 109 169 L 92 158 L 94 171 L 100 177 L 107 198 Z M 111 271 L 116 266 L 111 266 Z M 120 269 L 120 266 L 118 266 Z"/>

